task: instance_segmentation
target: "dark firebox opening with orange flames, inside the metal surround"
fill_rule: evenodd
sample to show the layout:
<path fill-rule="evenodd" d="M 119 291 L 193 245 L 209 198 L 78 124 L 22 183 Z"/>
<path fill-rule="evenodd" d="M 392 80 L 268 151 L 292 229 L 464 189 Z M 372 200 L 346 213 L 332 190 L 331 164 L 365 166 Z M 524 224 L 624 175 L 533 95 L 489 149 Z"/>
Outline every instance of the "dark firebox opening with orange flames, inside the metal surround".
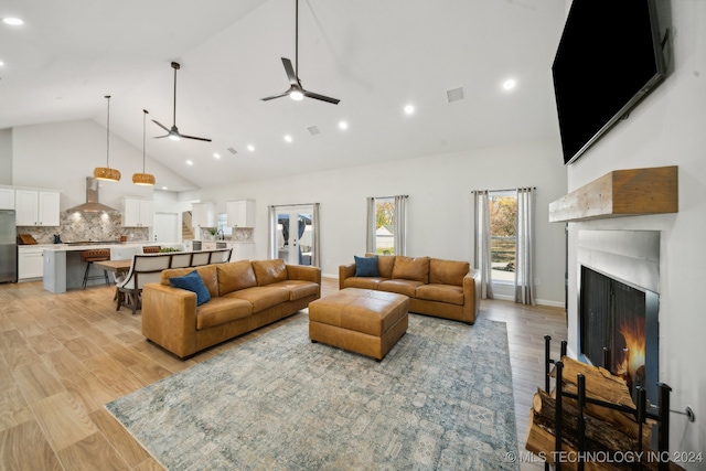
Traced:
<path fill-rule="evenodd" d="M 579 351 L 584 360 L 621 376 L 656 404 L 659 295 L 581 267 Z"/>

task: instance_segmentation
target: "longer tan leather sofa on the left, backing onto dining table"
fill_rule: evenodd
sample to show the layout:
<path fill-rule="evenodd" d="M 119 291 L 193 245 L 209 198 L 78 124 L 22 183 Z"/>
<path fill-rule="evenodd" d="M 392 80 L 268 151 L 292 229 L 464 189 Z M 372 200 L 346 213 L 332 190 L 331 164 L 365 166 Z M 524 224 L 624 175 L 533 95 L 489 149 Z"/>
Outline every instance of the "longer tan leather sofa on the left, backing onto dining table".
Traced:
<path fill-rule="evenodd" d="M 211 300 L 169 279 L 196 270 Z M 321 297 L 321 269 L 284 260 L 239 260 L 164 270 L 142 289 L 142 335 L 181 358 L 293 314 Z"/>

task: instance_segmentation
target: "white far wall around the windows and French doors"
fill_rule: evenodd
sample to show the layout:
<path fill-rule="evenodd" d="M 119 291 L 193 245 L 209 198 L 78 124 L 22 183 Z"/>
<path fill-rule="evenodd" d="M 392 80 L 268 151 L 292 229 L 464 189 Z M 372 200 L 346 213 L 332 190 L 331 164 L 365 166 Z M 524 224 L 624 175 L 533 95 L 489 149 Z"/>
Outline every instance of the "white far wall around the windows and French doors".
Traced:
<path fill-rule="evenodd" d="M 324 276 L 365 251 L 365 199 L 409 195 L 409 256 L 472 261 L 473 190 L 537 186 L 537 299 L 564 306 L 565 235 L 549 224 L 548 204 L 566 193 L 558 141 L 482 149 L 375 165 L 323 171 L 288 179 L 203 189 L 201 201 L 225 212 L 229 200 L 256 201 L 256 253 L 267 254 L 267 206 L 321 203 L 321 260 Z"/>

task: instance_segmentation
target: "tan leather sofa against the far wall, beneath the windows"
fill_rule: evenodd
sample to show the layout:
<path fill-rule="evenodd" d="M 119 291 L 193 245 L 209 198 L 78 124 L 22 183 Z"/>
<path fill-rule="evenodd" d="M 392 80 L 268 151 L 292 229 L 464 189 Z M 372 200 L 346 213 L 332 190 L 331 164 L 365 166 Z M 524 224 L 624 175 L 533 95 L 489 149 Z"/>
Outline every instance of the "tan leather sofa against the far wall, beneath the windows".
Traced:
<path fill-rule="evenodd" d="M 366 255 L 370 257 L 370 254 Z M 383 255 L 379 276 L 355 276 L 355 264 L 339 266 L 339 289 L 364 288 L 409 297 L 409 312 L 475 322 L 480 308 L 480 271 L 468 261 Z"/>

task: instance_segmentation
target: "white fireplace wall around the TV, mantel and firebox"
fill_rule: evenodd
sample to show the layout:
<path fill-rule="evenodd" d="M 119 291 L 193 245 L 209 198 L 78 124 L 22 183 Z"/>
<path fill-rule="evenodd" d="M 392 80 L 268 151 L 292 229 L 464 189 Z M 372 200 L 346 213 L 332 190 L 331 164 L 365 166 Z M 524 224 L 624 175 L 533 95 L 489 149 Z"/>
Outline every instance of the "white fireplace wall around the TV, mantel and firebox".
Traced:
<path fill-rule="evenodd" d="M 612 170 L 678 165 L 677 214 L 569 224 L 569 347 L 576 351 L 576 234 L 579 229 L 661 232 L 660 381 L 673 388 L 672 409 L 691 405 L 696 422 L 672 414 L 671 448 L 706 452 L 706 2 L 671 2 L 673 73 L 630 118 L 568 167 L 569 191 Z M 706 469 L 693 463 L 691 469 Z M 687 467 L 688 469 L 688 467 Z"/>

